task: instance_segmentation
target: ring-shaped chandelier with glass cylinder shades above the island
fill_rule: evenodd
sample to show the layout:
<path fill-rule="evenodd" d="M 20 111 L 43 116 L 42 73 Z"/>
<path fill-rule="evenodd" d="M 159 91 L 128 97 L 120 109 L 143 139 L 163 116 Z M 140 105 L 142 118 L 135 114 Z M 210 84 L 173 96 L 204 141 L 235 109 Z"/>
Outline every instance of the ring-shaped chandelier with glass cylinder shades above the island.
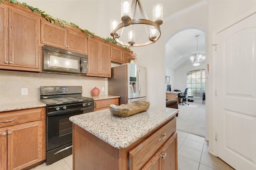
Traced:
<path fill-rule="evenodd" d="M 135 19 L 137 6 L 139 8 L 142 19 Z M 161 35 L 160 25 L 163 23 L 163 6 L 162 4 L 156 4 L 153 7 L 153 21 L 148 20 L 145 11 L 142 8 L 140 0 L 122 0 L 121 2 L 121 20 L 122 23 L 118 24 L 117 20 L 110 21 L 110 35 L 113 39 L 124 46 L 128 47 L 140 47 L 144 45 L 149 45 L 156 42 Z M 135 25 L 142 24 L 146 30 L 146 36 L 142 43 L 135 42 Z M 137 25 L 138 26 L 138 25 Z M 126 27 L 126 42 L 122 39 L 121 35 Z M 139 29 L 138 29 L 139 30 Z M 144 31 L 142 31 L 144 32 Z M 139 34 L 141 35 L 141 33 Z M 124 37 L 124 36 L 122 36 Z"/>

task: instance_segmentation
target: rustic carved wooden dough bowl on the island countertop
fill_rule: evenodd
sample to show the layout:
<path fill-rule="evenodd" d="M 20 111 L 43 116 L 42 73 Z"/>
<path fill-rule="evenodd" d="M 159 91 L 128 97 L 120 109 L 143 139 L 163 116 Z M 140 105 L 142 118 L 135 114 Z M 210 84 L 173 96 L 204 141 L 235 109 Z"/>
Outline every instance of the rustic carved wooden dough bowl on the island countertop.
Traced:
<path fill-rule="evenodd" d="M 128 117 L 146 111 L 150 106 L 150 102 L 146 101 L 134 101 L 128 104 L 121 104 L 116 106 L 111 104 L 109 109 L 113 115 L 120 117 Z"/>

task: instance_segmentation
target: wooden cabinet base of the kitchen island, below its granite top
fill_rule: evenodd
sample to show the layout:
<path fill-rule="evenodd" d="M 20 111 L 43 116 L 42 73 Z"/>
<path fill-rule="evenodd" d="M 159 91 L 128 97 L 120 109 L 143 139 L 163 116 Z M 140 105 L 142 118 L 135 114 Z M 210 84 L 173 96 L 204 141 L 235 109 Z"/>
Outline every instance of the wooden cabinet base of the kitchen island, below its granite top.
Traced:
<path fill-rule="evenodd" d="M 124 149 L 73 123 L 73 170 L 178 170 L 177 154 L 176 117 Z"/>

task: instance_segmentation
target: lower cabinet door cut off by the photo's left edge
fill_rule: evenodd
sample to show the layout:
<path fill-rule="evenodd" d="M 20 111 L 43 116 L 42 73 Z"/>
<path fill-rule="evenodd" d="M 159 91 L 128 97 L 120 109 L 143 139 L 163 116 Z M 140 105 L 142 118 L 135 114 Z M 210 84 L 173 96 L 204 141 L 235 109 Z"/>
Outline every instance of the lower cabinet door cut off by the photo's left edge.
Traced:
<path fill-rule="evenodd" d="M 7 168 L 7 131 L 0 130 L 0 170 Z"/>

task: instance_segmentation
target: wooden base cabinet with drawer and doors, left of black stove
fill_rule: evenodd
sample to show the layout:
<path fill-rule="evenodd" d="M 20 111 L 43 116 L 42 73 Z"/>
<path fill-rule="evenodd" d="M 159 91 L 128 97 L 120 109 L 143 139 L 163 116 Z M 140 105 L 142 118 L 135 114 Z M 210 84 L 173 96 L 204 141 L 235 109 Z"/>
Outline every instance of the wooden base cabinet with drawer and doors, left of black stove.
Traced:
<path fill-rule="evenodd" d="M 44 107 L 2 112 L 0 121 L 1 170 L 20 170 L 45 159 Z"/>

